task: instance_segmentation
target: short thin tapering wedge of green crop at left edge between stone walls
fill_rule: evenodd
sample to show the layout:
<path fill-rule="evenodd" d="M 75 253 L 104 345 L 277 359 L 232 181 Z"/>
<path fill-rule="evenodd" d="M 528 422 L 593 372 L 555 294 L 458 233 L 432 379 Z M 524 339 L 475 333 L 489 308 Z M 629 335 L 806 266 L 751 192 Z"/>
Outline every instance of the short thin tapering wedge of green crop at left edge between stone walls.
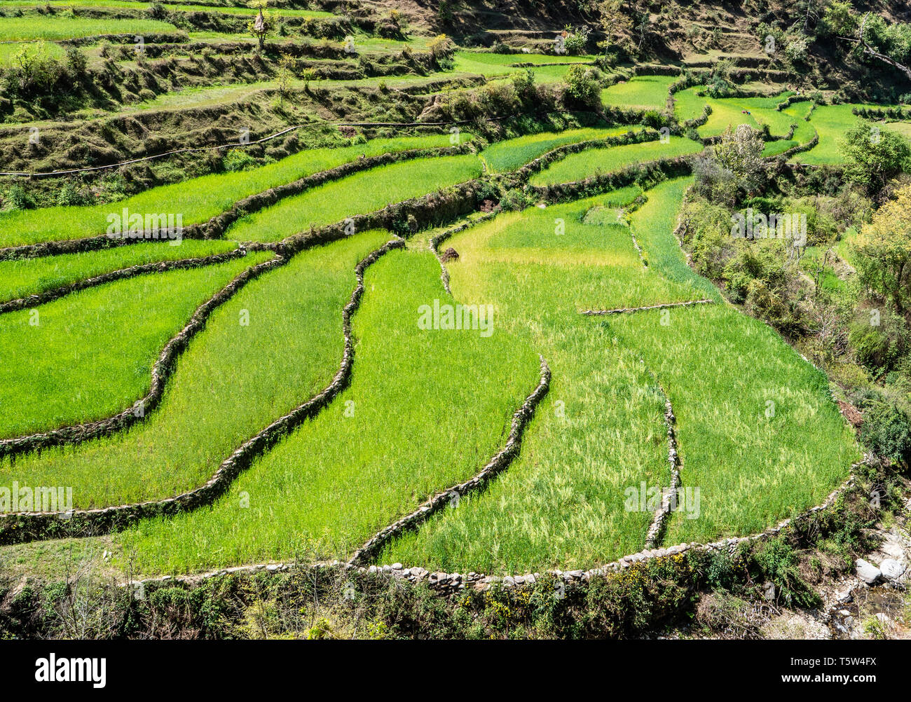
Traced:
<path fill-rule="evenodd" d="M 158 261 L 198 259 L 236 248 L 233 241 L 183 239 L 179 246 L 170 246 L 164 241 L 143 241 L 134 246 L 98 251 L 3 260 L 0 261 L 0 302 L 36 295 L 113 270 Z"/>

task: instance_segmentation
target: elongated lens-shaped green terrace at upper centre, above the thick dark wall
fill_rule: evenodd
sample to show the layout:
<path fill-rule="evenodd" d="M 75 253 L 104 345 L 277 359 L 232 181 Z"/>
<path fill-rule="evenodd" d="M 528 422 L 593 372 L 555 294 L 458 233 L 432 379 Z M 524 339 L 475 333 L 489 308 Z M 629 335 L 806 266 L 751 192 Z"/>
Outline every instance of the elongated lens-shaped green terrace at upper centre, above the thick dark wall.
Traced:
<path fill-rule="evenodd" d="M 281 200 L 241 219 L 229 231 L 239 241 L 278 241 L 311 227 L 383 209 L 481 175 L 473 154 L 404 161 L 371 168 Z"/>

